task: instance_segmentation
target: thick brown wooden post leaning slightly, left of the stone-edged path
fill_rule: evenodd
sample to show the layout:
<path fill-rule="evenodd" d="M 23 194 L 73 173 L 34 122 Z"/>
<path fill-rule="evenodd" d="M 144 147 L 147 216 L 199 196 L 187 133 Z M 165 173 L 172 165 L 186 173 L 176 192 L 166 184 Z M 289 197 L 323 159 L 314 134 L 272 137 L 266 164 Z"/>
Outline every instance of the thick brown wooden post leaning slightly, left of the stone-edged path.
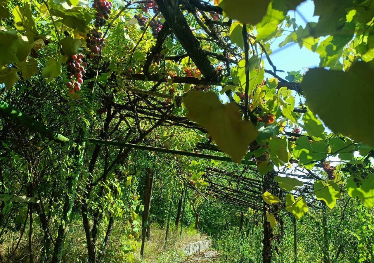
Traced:
<path fill-rule="evenodd" d="M 147 229 L 149 224 L 149 212 L 151 209 L 151 196 L 153 188 L 153 171 L 151 168 L 145 169 L 145 182 L 144 182 L 144 210 L 142 214 L 142 239 L 141 239 L 141 248 L 140 255 L 143 258 L 145 238 L 147 237 Z"/>

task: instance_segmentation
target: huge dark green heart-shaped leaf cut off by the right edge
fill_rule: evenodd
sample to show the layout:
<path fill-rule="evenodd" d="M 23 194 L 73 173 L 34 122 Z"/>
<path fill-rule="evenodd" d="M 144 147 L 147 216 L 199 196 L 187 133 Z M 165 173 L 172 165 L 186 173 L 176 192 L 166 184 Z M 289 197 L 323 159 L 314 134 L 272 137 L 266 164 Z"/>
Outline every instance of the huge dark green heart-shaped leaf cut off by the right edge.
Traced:
<path fill-rule="evenodd" d="M 365 62 L 349 71 L 313 68 L 301 88 L 312 111 L 335 133 L 374 147 L 374 68 Z"/>

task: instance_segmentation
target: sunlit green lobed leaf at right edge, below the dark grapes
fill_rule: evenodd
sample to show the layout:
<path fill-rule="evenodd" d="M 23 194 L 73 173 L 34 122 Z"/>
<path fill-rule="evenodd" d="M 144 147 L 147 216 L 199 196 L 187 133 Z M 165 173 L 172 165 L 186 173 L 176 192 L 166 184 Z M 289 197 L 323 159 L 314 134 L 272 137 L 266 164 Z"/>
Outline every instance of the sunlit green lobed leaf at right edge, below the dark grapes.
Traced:
<path fill-rule="evenodd" d="M 369 174 L 364 180 L 361 180 L 360 187 L 357 187 L 355 177 L 350 176 L 347 179 L 346 190 L 350 197 L 358 197 L 364 202 L 365 207 L 372 208 L 374 206 L 374 174 Z M 359 178 L 359 177 L 358 177 Z"/>

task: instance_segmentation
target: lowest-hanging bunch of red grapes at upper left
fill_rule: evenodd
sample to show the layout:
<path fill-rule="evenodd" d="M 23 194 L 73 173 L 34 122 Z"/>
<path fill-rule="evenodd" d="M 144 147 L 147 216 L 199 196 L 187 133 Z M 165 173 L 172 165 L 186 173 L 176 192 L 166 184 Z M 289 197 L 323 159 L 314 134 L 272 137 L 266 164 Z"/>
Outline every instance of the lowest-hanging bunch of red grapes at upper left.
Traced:
<path fill-rule="evenodd" d="M 83 61 L 83 58 L 83 54 L 74 54 L 66 61 L 68 67 L 67 77 L 70 79 L 66 86 L 69 88 L 70 94 L 74 93 L 74 89 L 80 91 L 80 85 L 83 83 L 82 77 L 86 73 L 85 67 L 87 67 L 87 63 Z"/>

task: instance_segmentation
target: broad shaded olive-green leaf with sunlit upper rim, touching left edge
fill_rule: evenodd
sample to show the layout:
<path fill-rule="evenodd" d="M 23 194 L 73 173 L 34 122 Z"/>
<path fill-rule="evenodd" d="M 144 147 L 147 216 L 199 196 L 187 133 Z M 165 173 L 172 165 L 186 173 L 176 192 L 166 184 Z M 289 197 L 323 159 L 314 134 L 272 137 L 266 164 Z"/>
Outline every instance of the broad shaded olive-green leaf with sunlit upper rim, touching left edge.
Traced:
<path fill-rule="evenodd" d="M 0 65 L 25 60 L 33 46 L 27 36 L 17 36 L 17 32 L 12 29 L 0 29 Z"/>

